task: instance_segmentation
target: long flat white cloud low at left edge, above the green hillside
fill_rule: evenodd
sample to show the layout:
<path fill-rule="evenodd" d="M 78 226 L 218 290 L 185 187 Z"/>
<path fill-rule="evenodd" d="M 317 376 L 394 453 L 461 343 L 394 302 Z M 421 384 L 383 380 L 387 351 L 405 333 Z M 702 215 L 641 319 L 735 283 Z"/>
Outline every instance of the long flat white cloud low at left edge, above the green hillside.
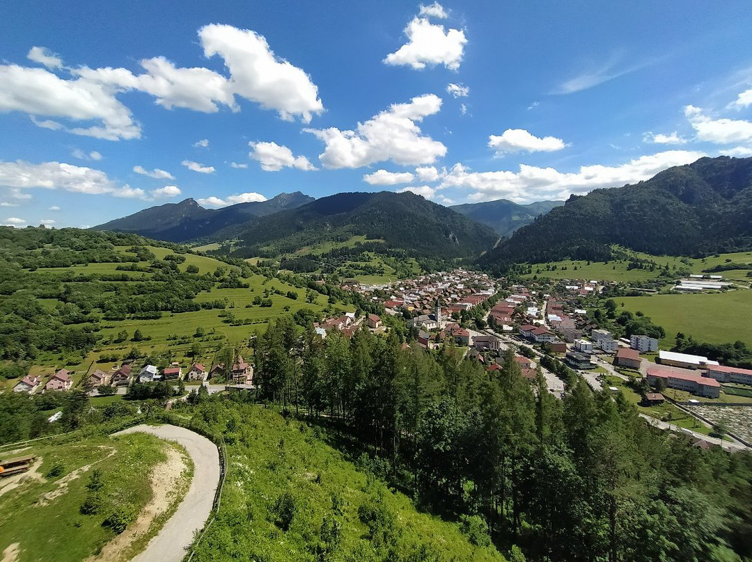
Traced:
<path fill-rule="evenodd" d="M 0 162 L 0 186 L 19 191 L 44 188 L 89 195 L 106 193 L 115 197 L 146 198 L 143 189 L 132 188 L 128 184 L 119 186 L 103 171 L 64 162 L 42 162 L 41 164 L 32 164 L 23 160 Z M 21 198 L 28 197 L 31 195 L 21 195 Z"/>

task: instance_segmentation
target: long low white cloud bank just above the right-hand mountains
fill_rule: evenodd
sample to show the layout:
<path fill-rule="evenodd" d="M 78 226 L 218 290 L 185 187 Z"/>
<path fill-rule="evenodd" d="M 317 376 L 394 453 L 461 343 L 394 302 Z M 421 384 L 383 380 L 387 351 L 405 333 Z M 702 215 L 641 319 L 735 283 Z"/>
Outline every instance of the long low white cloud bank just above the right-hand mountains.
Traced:
<path fill-rule="evenodd" d="M 507 198 L 517 202 L 567 198 L 571 193 L 623 186 L 647 180 L 672 166 L 689 164 L 705 153 L 669 150 L 640 156 L 622 165 L 581 166 L 577 172 L 560 172 L 554 168 L 520 165 L 519 171 L 472 172 L 461 164 L 454 165 L 439 189 L 459 188 L 469 192 L 472 201 Z"/>

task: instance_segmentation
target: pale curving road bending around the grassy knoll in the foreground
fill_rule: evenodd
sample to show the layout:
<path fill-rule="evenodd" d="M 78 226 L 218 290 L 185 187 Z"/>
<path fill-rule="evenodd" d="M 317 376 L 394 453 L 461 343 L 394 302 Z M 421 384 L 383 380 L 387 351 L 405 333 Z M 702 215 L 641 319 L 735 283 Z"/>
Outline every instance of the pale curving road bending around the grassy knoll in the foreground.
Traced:
<path fill-rule="evenodd" d="M 146 549 L 133 558 L 133 562 L 180 562 L 185 557 L 185 547 L 193 542 L 193 533 L 204 527 L 211 513 L 214 491 L 220 482 L 220 456 L 217 447 L 206 437 L 174 425 L 137 425 L 120 431 L 130 434 L 141 431 L 186 448 L 193 460 L 193 482 L 186 497 L 174 515 L 165 523 L 159 534 L 150 540 Z"/>

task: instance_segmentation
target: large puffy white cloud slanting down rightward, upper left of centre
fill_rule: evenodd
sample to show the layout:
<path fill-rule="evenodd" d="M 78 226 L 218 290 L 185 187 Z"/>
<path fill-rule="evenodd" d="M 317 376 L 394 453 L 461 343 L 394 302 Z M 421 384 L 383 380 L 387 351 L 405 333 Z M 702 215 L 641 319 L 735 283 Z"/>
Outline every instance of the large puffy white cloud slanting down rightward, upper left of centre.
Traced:
<path fill-rule="evenodd" d="M 219 55 L 231 74 L 234 94 L 277 110 L 282 119 L 299 116 L 303 122 L 324 110 L 318 87 L 311 77 L 284 59 L 279 59 L 266 39 L 232 26 L 212 24 L 199 30 L 206 56 Z"/>

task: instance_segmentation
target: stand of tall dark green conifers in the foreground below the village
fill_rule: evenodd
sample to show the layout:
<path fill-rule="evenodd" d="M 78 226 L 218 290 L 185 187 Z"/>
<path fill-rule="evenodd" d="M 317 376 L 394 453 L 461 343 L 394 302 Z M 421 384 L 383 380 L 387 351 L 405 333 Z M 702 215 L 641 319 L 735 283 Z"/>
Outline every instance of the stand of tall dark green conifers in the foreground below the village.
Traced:
<path fill-rule="evenodd" d="M 529 560 L 746 560 L 752 457 L 650 428 L 620 395 L 569 373 L 549 394 L 513 355 L 488 372 L 363 331 L 256 342 L 259 399 L 337 428 L 353 456 L 418 506 L 477 516 Z"/>

